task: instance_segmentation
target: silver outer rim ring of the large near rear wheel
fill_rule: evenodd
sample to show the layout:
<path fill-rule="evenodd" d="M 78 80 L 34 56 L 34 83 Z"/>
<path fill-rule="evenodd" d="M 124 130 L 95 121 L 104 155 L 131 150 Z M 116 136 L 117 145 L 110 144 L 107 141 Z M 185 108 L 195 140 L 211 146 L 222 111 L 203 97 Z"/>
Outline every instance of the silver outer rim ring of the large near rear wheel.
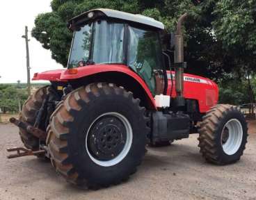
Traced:
<path fill-rule="evenodd" d="M 88 140 L 88 133 L 90 132 L 90 129 L 93 126 L 93 124 L 95 124 L 97 119 L 99 119 L 100 117 L 104 117 L 106 115 L 114 116 L 120 119 L 120 121 L 125 126 L 125 130 L 127 133 L 127 140 L 125 142 L 125 147 L 122 149 L 122 151 L 119 153 L 118 156 L 116 156 L 112 160 L 102 161 L 102 160 L 97 160 L 91 155 L 90 151 L 88 150 L 87 140 Z M 88 131 L 86 133 L 86 152 L 88 153 L 88 156 L 90 157 L 90 159 L 93 160 L 93 162 L 96 163 L 97 165 L 100 165 L 102 167 L 110 167 L 120 163 L 127 156 L 127 153 L 129 153 L 129 150 L 131 149 L 132 138 L 133 138 L 133 133 L 132 133 L 131 124 L 129 123 L 128 119 L 125 116 L 121 115 L 120 113 L 104 113 L 103 115 L 100 115 L 99 117 L 97 117 L 93 121 L 93 123 L 90 124 L 90 127 L 88 128 Z"/>

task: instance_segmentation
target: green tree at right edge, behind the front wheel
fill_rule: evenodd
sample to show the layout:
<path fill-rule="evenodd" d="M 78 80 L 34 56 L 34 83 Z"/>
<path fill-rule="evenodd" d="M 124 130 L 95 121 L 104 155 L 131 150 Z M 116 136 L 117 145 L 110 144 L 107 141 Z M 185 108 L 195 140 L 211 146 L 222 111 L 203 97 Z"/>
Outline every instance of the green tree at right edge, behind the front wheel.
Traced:
<path fill-rule="evenodd" d="M 255 5 L 255 0 L 218 1 L 214 10 L 216 20 L 212 22 L 217 37 L 223 41 L 223 48 L 232 52 L 234 72 L 246 78 L 250 103 L 255 103 L 255 89 L 250 81 L 256 72 Z"/>

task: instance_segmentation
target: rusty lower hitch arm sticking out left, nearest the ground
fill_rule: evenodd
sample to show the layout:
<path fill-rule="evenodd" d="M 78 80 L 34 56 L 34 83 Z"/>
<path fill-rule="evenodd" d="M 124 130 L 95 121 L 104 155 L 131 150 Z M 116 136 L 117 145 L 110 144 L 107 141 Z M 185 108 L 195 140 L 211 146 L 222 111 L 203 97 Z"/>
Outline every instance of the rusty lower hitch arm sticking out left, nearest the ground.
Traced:
<path fill-rule="evenodd" d="M 17 152 L 17 153 L 10 154 L 9 156 L 7 156 L 8 159 L 19 158 L 19 157 L 23 157 L 23 156 L 41 156 L 46 153 L 45 150 L 32 151 L 29 149 L 25 149 L 23 147 L 14 147 L 14 148 L 6 149 L 6 150 L 8 152 L 13 152 L 13 151 Z"/>

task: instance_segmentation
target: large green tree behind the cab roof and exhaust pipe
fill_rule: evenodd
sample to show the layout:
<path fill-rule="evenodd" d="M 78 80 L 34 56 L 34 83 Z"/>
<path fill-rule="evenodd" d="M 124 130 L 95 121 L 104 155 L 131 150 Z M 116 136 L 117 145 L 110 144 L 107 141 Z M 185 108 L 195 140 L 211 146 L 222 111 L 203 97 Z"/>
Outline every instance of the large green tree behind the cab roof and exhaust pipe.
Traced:
<path fill-rule="evenodd" d="M 50 49 L 52 58 L 64 67 L 70 51 L 72 33 L 67 29 L 68 19 L 93 8 L 113 8 L 131 13 L 141 13 L 154 17 L 166 26 L 166 31 L 175 31 L 177 19 L 184 12 L 189 12 L 189 22 L 186 23 L 187 48 L 185 60 L 189 66 L 186 72 L 214 78 L 223 72 L 230 72 L 232 62 L 229 53 L 225 52 L 221 41 L 212 34 L 212 12 L 216 3 L 211 1 L 182 0 L 53 0 L 52 12 L 38 15 L 32 35 L 45 49 Z M 210 3 L 209 3 L 210 2 Z M 215 2 L 215 1 L 214 1 Z M 47 34 L 44 34 L 47 33 Z M 218 52 L 218 53 L 216 53 Z M 227 65 L 228 64 L 228 65 Z"/>

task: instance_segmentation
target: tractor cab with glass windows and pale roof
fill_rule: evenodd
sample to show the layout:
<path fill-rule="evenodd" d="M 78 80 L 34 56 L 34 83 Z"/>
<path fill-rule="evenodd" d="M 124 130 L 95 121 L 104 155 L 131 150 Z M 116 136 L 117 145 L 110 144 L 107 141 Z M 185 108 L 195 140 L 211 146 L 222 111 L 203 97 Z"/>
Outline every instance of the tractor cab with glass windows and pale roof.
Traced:
<path fill-rule="evenodd" d="M 161 22 L 143 15 L 97 9 L 71 19 L 69 28 L 74 38 L 68 68 L 126 65 L 143 78 L 152 94 L 163 94 Z"/>

